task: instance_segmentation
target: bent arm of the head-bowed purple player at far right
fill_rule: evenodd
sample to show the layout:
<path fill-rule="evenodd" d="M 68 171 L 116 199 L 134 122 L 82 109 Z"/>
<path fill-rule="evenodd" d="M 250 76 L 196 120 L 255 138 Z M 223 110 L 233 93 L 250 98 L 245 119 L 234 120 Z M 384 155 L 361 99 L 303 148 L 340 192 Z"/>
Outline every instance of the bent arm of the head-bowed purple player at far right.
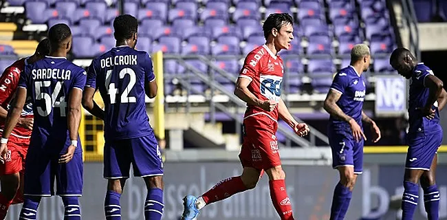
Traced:
<path fill-rule="evenodd" d="M 442 87 L 444 87 L 444 83 L 442 83 L 439 78 L 432 74 L 428 74 L 424 78 L 424 86 L 428 88 L 428 100 L 425 104 L 422 112 L 424 116 L 428 118 L 433 118 L 435 110 L 432 109 L 433 104 L 437 101 L 437 98 L 441 95 Z"/>

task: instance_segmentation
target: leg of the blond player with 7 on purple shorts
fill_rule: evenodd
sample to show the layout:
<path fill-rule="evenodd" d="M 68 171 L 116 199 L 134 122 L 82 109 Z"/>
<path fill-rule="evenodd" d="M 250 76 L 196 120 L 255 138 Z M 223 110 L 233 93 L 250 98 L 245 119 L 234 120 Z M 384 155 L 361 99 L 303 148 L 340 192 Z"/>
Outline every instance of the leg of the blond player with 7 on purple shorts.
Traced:
<path fill-rule="evenodd" d="M 329 219 L 338 220 L 344 219 L 351 201 L 353 186 L 356 184 L 357 175 L 354 166 L 356 143 L 342 133 L 332 134 L 329 132 L 329 144 L 332 151 L 332 167 L 336 168 L 340 174 L 340 181 L 334 188 Z M 358 155 L 361 153 L 358 152 Z M 361 168 L 362 166 L 358 169 L 361 170 Z"/>

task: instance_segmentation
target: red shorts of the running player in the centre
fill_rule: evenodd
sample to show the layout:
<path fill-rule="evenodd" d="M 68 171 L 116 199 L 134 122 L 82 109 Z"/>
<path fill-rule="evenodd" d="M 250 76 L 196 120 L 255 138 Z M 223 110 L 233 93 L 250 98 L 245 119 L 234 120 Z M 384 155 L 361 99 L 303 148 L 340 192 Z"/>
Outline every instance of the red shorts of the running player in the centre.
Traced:
<path fill-rule="evenodd" d="M 267 116 L 265 118 L 263 117 L 261 122 L 257 120 L 257 126 L 252 126 L 249 120 L 243 123 L 243 144 L 239 153 L 243 167 L 268 170 L 281 165 L 278 140 L 275 135 L 278 124 Z M 260 123 L 263 126 L 259 126 Z"/>

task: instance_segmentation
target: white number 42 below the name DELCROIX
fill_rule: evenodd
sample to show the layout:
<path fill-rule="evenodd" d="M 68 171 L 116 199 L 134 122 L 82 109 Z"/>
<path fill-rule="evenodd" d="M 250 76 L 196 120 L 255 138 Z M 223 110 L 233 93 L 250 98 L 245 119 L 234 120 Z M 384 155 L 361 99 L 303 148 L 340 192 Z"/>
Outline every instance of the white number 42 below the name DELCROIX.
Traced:
<path fill-rule="evenodd" d="M 115 83 L 110 83 L 111 81 L 111 74 L 113 72 L 113 69 L 109 69 L 106 72 L 105 76 L 105 87 L 107 88 L 107 94 L 110 96 L 110 104 L 116 103 L 116 94 L 120 94 L 120 91 L 118 91 L 118 88 L 115 87 Z M 134 96 L 129 96 L 129 92 L 133 89 L 133 86 L 136 83 L 136 74 L 131 68 L 124 68 L 120 71 L 120 79 L 123 79 L 126 74 L 129 75 L 129 84 L 127 85 L 126 89 L 122 91 L 121 94 L 121 103 L 134 103 L 137 102 L 137 98 Z"/>

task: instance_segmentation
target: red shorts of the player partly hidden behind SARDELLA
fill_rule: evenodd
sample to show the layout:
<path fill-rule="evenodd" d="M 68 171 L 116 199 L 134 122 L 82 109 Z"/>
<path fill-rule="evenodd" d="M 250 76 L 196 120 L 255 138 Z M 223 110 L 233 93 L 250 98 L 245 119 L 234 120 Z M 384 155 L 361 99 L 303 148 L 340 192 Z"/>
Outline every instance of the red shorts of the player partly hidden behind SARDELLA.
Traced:
<path fill-rule="evenodd" d="M 0 175 L 25 172 L 25 158 L 29 144 L 30 139 L 10 136 L 6 162 L 0 163 Z"/>

